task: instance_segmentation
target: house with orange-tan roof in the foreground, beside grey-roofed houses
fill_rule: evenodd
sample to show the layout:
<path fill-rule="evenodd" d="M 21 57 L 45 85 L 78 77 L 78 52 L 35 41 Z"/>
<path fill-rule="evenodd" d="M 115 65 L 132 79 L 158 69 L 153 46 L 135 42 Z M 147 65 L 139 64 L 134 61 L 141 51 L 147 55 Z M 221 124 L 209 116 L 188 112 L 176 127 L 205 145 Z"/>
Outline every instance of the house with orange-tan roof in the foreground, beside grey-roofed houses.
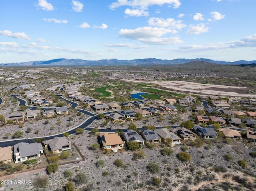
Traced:
<path fill-rule="evenodd" d="M 124 148 L 124 141 L 117 133 L 100 133 L 100 142 L 105 149 L 117 151 Z"/>

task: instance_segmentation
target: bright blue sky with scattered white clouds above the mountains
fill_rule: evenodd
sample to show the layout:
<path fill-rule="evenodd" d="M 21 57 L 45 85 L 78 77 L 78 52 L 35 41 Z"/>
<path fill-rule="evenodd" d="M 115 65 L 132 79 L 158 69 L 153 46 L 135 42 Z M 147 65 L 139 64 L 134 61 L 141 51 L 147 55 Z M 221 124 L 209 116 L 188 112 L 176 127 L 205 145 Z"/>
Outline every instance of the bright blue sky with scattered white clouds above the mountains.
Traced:
<path fill-rule="evenodd" d="M 256 0 L 1 0 L 0 63 L 256 60 Z"/>

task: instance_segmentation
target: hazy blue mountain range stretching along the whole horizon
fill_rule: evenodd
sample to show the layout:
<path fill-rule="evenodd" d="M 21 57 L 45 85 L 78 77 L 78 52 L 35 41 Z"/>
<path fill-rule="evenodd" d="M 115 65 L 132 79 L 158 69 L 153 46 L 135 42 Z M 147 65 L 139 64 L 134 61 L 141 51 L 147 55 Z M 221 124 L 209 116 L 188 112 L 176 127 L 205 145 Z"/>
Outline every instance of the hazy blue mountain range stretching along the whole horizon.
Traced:
<path fill-rule="evenodd" d="M 173 60 L 162 60 L 155 58 L 146 58 L 146 59 L 134 59 L 134 60 L 118 60 L 118 59 L 109 59 L 109 60 L 82 60 L 82 59 L 53 59 L 48 61 L 28 61 L 20 63 L 5 63 L 0 64 L 4 67 L 20 67 L 20 66 L 104 66 L 104 65 L 176 65 L 176 64 L 185 64 L 193 61 L 202 61 L 213 64 L 221 65 L 240 65 L 240 66 L 256 66 L 256 60 L 246 61 L 239 60 L 235 62 L 226 62 L 226 61 L 215 61 L 205 58 L 196 58 L 196 59 L 173 59 Z"/>

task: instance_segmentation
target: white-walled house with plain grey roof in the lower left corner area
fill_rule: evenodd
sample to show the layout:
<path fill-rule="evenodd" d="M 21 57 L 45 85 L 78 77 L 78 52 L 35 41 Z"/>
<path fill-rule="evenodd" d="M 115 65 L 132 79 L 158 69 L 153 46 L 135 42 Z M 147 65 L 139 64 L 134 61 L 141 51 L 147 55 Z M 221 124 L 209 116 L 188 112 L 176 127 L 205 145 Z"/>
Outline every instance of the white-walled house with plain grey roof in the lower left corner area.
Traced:
<path fill-rule="evenodd" d="M 40 158 L 43 153 L 43 147 L 40 143 L 24 143 L 20 142 L 13 146 L 14 162 L 23 162 L 32 158 Z"/>

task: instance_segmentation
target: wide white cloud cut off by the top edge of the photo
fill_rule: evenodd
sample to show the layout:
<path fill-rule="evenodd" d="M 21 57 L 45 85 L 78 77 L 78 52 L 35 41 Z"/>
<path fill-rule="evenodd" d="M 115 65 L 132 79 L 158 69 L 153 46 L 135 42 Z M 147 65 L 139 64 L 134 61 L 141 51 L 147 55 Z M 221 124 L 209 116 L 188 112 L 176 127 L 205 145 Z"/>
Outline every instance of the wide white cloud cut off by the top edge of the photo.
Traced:
<path fill-rule="evenodd" d="M 132 8 L 140 7 L 147 9 L 148 6 L 151 5 L 162 6 L 163 4 L 173 5 L 174 8 L 179 8 L 181 5 L 180 0 L 117 0 L 117 2 L 112 3 L 109 7 L 112 10 L 120 6 L 130 6 Z"/>

